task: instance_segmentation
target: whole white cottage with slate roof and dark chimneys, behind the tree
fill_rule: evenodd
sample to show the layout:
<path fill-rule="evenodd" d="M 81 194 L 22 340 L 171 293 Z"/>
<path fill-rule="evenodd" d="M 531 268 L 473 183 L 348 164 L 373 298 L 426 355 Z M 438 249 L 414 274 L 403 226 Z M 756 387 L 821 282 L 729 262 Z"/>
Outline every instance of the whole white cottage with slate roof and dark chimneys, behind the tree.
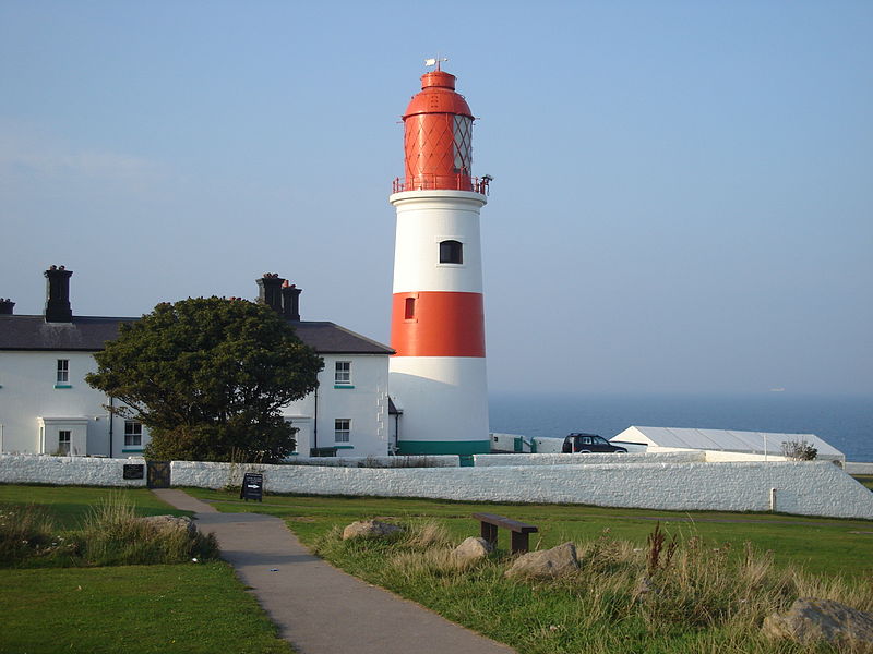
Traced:
<path fill-rule="evenodd" d="M 136 456 L 148 443 L 136 421 L 110 414 L 113 399 L 89 387 L 94 353 L 133 317 L 74 316 L 71 270 L 52 266 L 43 315 L 15 315 L 0 299 L 0 452 Z M 288 405 L 302 456 L 388 453 L 387 346 L 330 322 L 301 320 L 300 289 L 277 275 L 258 280 L 260 300 L 278 311 L 324 358 L 315 392 Z"/>

